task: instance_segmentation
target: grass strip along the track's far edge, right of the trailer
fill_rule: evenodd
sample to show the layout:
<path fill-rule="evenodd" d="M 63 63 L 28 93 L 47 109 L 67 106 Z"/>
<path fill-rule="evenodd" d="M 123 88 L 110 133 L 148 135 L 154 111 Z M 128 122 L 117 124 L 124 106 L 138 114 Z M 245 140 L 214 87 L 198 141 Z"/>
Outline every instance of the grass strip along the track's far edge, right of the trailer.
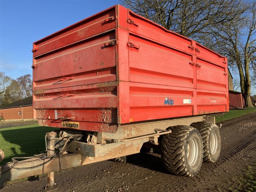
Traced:
<path fill-rule="evenodd" d="M 215 120 L 216 120 L 216 123 L 220 123 L 222 121 L 234 119 L 236 117 L 248 115 L 248 114 L 254 113 L 254 112 L 256 112 L 256 107 L 248 108 L 248 109 L 239 109 L 239 110 L 234 109 L 234 110 L 230 110 L 229 112 L 225 113 L 223 116 L 216 116 Z"/>

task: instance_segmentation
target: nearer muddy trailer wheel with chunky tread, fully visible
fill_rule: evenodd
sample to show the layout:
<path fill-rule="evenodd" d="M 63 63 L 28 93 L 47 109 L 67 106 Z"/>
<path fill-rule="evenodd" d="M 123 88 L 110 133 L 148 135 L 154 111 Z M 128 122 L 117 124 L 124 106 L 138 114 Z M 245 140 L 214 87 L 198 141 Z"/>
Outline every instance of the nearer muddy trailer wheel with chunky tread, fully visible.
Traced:
<path fill-rule="evenodd" d="M 202 165 L 203 142 L 200 133 L 190 126 L 169 127 L 171 133 L 162 140 L 162 160 L 166 170 L 174 175 L 194 176 Z"/>

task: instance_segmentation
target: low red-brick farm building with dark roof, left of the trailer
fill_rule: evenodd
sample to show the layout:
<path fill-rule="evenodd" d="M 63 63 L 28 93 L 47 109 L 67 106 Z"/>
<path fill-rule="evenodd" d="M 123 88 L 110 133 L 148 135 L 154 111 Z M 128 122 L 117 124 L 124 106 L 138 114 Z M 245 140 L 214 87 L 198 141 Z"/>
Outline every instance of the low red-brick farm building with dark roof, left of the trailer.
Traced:
<path fill-rule="evenodd" d="M 0 108 L 0 118 L 4 120 L 33 119 L 32 96 Z"/>

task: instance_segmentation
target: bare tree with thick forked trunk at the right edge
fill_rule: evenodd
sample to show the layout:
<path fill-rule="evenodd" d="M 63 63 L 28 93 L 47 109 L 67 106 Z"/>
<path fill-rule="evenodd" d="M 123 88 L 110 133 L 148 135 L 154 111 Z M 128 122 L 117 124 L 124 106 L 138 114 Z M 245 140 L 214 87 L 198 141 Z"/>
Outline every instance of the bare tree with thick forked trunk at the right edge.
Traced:
<path fill-rule="evenodd" d="M 253 107 L 250 71 L 256 61 L 256 2 L 240 18 L 239 22 L 228 22 L 209 35 L 212 35 L 216 49 L 228 56 L 229 65 L 238 70 L 245 107 Z"/>

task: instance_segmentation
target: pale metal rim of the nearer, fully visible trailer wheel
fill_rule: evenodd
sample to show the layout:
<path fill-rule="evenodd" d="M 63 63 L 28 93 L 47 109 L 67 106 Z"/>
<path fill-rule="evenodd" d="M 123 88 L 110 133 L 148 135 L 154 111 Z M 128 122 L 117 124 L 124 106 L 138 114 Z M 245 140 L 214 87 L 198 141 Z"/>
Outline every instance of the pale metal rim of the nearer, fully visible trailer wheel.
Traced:
<path fill-rule="evenodd" d="M 192 137 L 188 140 L 188 146 L 187 146 L 188 164 L 190 166 L 195 165 L 197 158 L 198 158 L 198 143 L 196 139 Z"/>

